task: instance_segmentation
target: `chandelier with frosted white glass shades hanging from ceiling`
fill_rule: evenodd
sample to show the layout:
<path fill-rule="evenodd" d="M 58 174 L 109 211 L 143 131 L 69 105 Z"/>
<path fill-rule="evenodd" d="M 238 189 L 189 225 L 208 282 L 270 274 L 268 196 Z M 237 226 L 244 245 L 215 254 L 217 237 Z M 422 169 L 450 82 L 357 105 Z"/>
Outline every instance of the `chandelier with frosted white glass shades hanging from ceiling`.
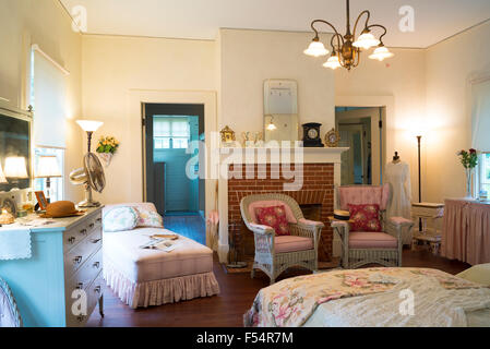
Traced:
<path fill-rule="evenodd" d="M 356 39 L 357 26 L 361 21 L 362 16 L 366 16 L 364 28 L 359 37 Z M 356 20 L 354 25 L 354 33 L 350 32 L 350 3 L 347 0 L 347 33 L 342 36 L 338 34 L 335 26 L 324 20 L 314 20 L 311 22 L 311 28 L 314 32 L 314 38 L 304 53 L 308 56 L 320 57 L 328 55 L 328 50 L 320 41 L 319 31 L 315 28 L 315 24 L 323 23 L 331 26 L 334 29 L 334 34 L 331 39 L 332 55 L 328 60 L 323 64 L 325 68 L 337 69 L 344 67 L 348 71 L 352 68 L 359 65 L 361 49 L 368 50 L 372 47 L 377 47 L 374 52 L 369 56 L 370 59 L 379 60 L 380 62 L 386 58 L 391 58 L 394 55 L 383 44 L 383 37 L 386 35 L 387 31 L 381 24 L 369 24 L 371 19 L 371 13 L 366 10 L 362 11 Z M 371 34 L 372 28 L 383 29 L 383 34 L 379 39 Z"/>

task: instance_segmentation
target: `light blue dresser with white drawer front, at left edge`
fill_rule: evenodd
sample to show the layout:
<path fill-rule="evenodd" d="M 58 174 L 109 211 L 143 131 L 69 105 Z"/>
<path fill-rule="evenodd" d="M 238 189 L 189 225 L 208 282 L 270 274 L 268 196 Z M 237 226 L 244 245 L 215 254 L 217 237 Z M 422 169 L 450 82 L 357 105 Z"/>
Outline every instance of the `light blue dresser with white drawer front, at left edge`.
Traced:
<path fill-rule="evenodd" d="M 0 261 L 24 326 L 84 326 L 97 303 L 104 316 L 101 207 L 29 229 L 32 257 Z"/>

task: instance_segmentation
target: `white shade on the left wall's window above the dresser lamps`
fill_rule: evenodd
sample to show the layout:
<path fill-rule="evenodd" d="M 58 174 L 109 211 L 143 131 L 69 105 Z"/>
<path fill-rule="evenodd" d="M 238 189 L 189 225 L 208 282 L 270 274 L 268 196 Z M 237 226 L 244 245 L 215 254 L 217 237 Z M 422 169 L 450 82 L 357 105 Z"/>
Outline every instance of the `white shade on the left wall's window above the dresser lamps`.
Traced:
<path fill-rule="evenodd" d="M 34 145 L 65 147 L 68 72 L 36 45 L 32 49 L 31 105 L 34 107 Z"/>

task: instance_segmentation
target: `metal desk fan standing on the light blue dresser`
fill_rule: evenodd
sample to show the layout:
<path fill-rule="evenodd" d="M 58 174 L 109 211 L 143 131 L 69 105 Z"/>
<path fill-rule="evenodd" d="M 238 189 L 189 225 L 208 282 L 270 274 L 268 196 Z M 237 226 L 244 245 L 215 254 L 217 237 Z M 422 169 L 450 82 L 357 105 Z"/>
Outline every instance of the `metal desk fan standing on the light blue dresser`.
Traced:
<path fill-rule="evenodd" d="M 101 193 L 106 186 L 106 176 L 100 160 L 94 153 L 87 153 L 83 157 L 83 167 L 70 173 L 70 181 L 75 185 L 85 186 L 85 200 L 79 203 L 79 207 L 98 207 L 99 202 L 95 202 L 92 190 Z"/>

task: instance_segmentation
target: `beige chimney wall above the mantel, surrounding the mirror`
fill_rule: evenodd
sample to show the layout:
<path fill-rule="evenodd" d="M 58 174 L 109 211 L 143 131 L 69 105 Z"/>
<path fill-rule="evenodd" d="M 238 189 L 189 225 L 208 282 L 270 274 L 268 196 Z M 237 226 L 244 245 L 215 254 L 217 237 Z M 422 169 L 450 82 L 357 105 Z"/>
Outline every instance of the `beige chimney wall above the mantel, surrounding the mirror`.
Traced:
<path fill-rule="evenodd" d="M 322 67 L 325 58 L 302 53 L 311 34 L 222 29 L 219 40 L 220 127 L 228 124 L 240 141 L 242 131 L 264 130 L 263 86 L 267 79 L 298 82 L 300 124 L 322 123 L 322 136 L 334 127 L 334 74 Z"/>

